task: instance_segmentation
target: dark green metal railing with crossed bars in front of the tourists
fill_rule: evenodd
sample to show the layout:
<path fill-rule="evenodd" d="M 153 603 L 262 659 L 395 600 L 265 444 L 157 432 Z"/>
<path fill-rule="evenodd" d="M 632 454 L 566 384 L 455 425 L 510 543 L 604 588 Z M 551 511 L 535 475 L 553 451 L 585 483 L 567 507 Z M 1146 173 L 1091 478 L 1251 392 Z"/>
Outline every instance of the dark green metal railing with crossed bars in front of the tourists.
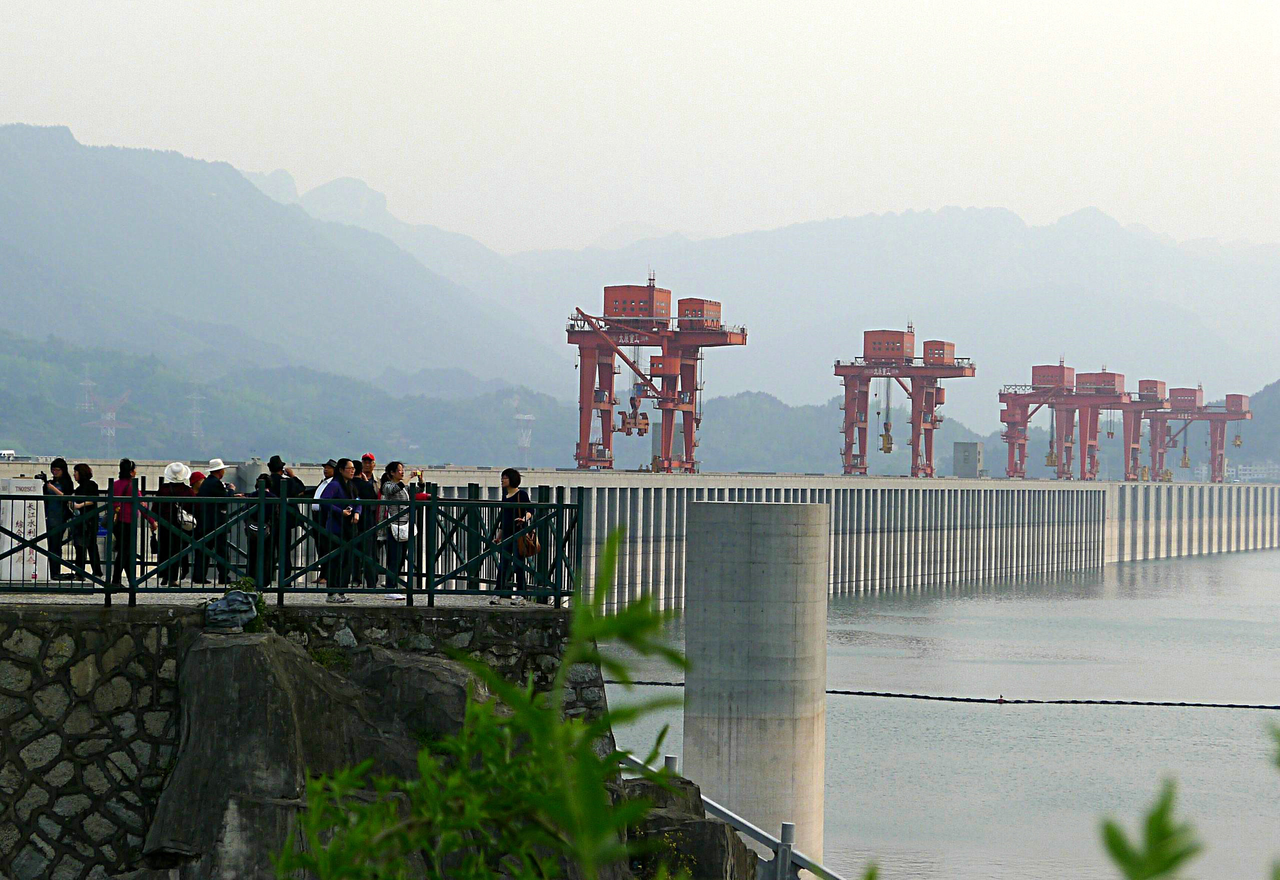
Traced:
<path fill-rule="evenodd" d="M 403 593 L 429 606 L 484 593 L 559 607 L 572 594 L 581 506 L 563 487 L 535 487 L 530 503 L 483 500 L 479 484 L 467 498 L 412 488 L 430 497 L 340 502 L 364 523 L 330 516 L 338 502 L 265 489 L 159 496 L 134 480 L 128 496 L 110 484 L 102 496 L 0 494 L 0 593 L 101 594 L 105 605 L 127 593 L 136 605 L 140 594 L 221 592 L 248 578 L 278 605 L 288 593 Z M 68 506 L 83 502 L 95 507 Z M 504 512 L 511 534 L 500 530 Z"/>

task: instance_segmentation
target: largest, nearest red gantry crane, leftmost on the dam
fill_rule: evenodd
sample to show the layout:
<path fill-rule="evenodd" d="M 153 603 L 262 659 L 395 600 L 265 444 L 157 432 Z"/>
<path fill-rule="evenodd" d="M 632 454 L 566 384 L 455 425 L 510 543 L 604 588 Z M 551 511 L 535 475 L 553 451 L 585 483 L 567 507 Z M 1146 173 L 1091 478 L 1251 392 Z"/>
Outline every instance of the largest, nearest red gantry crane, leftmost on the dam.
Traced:
<path fill-rule="evenodd" d="M 644 400 L 653 400 L 662 414 L 660 452 L 653 470 L 695 473 L 696 430 L 701 423 L 699 392 L 703 348 L 746 345 L 746 328 L 724 327 L 721 304 L 686 297 L 671 311 L 671 291 L 657 287 L 653 273 L 648 284 L 618 284 L 604 288 L 604 315 L 588 315 L 576 309 L 568 319 L 568 342 L 579 348 L 579 433 L 573 459 L 580 470 L 613 468 L 613 434 L 644 437 L 649 415 L 640 411 Z M 645 368 L 640 348 L 655 347 L 658 354 Z M 631 350 L 628 356 L 625 348 Z M 617 414 L 614 377 L 621 359 L 636 375 L 628 395 L 630 410 Z M 676 412 L 681 412 L 684 444 L 672 452 Z M 593 423 L 599 419 L 600 436 L 593 439 Z"/>

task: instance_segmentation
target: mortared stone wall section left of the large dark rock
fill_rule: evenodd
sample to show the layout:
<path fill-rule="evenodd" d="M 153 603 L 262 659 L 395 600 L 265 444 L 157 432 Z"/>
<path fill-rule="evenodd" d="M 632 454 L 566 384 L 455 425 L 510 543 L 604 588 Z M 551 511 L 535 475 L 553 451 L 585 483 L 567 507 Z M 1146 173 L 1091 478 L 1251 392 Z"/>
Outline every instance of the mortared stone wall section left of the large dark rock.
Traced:
<path fill-rule="evenodd" d="M 0 611 L 0 876 L 131 863 L 178 744 L 172 608 Z"/>

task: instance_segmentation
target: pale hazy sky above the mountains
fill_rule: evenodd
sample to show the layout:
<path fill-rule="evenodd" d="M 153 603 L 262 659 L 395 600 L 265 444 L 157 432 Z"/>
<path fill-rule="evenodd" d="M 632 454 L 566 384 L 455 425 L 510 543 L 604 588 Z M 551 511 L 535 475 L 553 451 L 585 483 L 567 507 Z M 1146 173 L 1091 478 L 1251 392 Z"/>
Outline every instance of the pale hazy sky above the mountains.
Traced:
<path fill-rule="evenodd" d="M 500 250 L 1097 205 L 1280 241 L 1280 3 L 0 3 L 0 122 Z"/>

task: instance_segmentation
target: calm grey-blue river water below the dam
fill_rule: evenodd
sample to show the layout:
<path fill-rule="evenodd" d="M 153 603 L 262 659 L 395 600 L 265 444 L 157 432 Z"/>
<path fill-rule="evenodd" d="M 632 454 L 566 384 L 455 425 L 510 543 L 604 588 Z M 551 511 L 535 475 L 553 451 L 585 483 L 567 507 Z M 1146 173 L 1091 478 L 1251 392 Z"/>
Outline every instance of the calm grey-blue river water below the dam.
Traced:
<path fill-rule="evenodd" d="M 669 631 L 682 643 L 678 623 Z M 658 662 L 637 678 L 680 679 Z M 827 687 L 1280 705 L 1280 551 L 833 597 Z M 611 685 L 609 699 L 627 697 Z M 620 744 L 646 751 L 662 722 L 663 752 L 680 754 L 678 710 L 618 730 Z M 1270 876 L 1271 724 L 1280 712 L 828 696 L 824 862 L 846 877 L 874 860 L 886 879 L 1111 879 L 1101 817 L 1135 829 L 1172 778 L 1206 843 L 1189 874 Z"/>

